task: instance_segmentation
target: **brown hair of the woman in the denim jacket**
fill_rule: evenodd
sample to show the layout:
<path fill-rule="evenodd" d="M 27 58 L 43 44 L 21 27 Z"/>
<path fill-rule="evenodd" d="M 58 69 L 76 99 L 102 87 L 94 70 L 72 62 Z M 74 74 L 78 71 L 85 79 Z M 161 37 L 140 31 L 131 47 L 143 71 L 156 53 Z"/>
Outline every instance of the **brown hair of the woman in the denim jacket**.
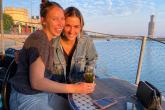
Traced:
<path fill-rule="evenodd" d="M 81 12 L 76 7 L 66 8 L 65 9 L 65 18 L 72 17 L 72 16 L 78 17 L 80 19 L 81 32 L 82 32 L 82 28 L 84 26 L 84 19 L 83 19 Z"/>

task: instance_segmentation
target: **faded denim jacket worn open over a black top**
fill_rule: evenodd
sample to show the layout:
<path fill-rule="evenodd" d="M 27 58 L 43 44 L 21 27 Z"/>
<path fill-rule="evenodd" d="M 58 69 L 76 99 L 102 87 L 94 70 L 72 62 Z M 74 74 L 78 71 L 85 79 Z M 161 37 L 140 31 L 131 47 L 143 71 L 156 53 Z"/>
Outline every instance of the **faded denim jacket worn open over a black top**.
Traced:
<path fill-rule="evenodd" d="M 54 77 L 58 81 L 61 79 L 61 82 L 63 82 L 62 76 L 64 76 L 66 82 L 66 61 L 60 44 L 60 38 L 61 37 L 58 37 L 53 40 Z M 68 75 L 69 82 L 75 83 L 83 81 L 84 72 L 87 69 L 95 68 L 97 56 L 98 55 L 91 38 L 77 38 L 77 45 L 72 56 L 70 73 Z"/>

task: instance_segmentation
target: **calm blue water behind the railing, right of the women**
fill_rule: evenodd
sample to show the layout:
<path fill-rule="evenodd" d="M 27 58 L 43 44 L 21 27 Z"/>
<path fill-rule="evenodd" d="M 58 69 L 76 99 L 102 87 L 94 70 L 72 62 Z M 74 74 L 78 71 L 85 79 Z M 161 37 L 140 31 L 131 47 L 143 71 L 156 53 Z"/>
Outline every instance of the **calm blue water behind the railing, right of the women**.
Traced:
<path fill-rule="evenodd" d="M 99 58 L 96 74 L 115 76 L 135 83 L 141 40 L 95 40 Z M 141 80 L 165 91 L 165 44 L 147 41 L 142 64 Z"/>

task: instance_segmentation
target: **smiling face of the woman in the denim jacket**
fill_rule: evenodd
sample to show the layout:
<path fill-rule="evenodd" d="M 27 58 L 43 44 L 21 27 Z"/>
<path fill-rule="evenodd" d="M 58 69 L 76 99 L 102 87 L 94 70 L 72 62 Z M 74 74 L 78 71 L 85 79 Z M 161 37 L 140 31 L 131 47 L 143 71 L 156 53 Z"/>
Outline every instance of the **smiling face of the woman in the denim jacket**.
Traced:
<path fill-rule="evenodd" d="M 65 18 L 64 34 L 70 41 L 75 40 L 81 31 L 80 19 L 76 16 Z"/>

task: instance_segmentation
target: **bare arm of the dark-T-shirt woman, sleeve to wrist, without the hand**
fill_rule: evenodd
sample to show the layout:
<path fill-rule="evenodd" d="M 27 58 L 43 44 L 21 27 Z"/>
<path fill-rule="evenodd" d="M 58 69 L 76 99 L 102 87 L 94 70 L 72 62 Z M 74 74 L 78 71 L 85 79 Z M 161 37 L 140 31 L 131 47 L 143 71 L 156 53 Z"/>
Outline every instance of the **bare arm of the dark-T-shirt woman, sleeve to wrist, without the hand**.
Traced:
<path fill-rule="evenodd" d="M 66 87 L 67 84 L 58 83 L 45 78 L 44 72 L 45 65 L 42 62 L 41 57 L 39 57 L 30 65 L 29 77 L 33 89 L 54 93 L 70 93 Z"/>

